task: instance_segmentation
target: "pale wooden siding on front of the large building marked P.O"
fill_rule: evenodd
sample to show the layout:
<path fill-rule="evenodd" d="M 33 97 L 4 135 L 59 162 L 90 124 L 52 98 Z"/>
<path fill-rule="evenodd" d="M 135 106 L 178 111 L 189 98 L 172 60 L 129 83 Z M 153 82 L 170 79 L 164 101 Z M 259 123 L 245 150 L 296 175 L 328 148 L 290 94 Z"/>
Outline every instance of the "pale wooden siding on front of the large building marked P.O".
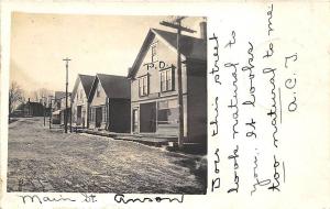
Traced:
<path fill-rule="evenodd" d="M 148 103 L 148 102 L 156 102 L 156 111 L 158 111 L 158 102 L 166 101 L 172 99 L 177 99 L 178 95 L 178 78 L 177 78 L 177 54 L 176 51 L 169 48 L 169 46 L 163 43 L 157 37 L 154 37 L 152 41 L 153 45 L 156 43 L 156 59 L 154 62 L 154 67 L 147 70 L 145 64 L 152 62 L 152 46 L 148 48 L 143 62 L 135 75 L 135 78 L 131 80 L 131 114 L 133 113 L 134 109 L 139 109 L 139 119 L 141 120 L 141 105 Z M 164 68 L 173 67 L 173 79 L 174 79 L 174 90 L 162 92 L 161 90 L 161 70 Z M 183 79 L 183 92 L 184 92 L 184 135 L 187 136 L 188 127 L 187 127 L 187 73 L 186 73 L 186 65 L 183 64 L 182 66 L 182 79 Z M 142 76 L 148 76 L 148 95 L 147 96 L 140 96 L 139 94 L 139 78 Z M 156 117 L 156 116 L 155 116 Z M 156 117 L 157 118 L 157 117 Z M 157 119 L 156 119 L 157 120 Z M 141 129 L 141 121 L 139 121 L 139 132 Z M 164 135 L 178 135 L 178 127 L 175 125 L 158 125 L 156 121 L 156 132 L 157 134 Z M 133 117 L 131 116 L 131 127 L 133 129 Z M 131 130 L 133 132 L 133 130 Z"/>

